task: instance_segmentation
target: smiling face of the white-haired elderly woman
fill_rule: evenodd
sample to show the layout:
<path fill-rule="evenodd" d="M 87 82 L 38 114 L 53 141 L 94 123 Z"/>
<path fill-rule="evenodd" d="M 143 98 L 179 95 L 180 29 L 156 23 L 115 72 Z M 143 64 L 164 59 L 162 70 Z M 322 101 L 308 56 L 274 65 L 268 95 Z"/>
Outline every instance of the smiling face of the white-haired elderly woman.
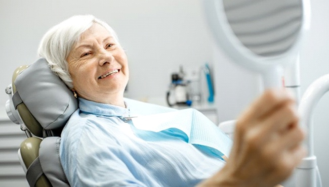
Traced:
<path fill-rule="evenodd" d="M 123 98 L 129 79 L 127 56 L 103 26 L 95 23 L 81 34 L 66 61 L 79 97 L 108 104 Z"/>

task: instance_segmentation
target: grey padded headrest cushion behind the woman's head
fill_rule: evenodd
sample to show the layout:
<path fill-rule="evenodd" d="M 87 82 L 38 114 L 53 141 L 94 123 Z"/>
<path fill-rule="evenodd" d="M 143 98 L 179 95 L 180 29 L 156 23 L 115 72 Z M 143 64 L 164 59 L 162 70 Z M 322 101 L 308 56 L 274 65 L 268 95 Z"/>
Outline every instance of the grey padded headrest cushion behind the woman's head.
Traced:
<path fill-rule="evenodd" d="M 78 107 L 72 92 L 44 58 L 22 71 L 14 84 L 29 112 L 46 130 L 63 128 Z"/>

